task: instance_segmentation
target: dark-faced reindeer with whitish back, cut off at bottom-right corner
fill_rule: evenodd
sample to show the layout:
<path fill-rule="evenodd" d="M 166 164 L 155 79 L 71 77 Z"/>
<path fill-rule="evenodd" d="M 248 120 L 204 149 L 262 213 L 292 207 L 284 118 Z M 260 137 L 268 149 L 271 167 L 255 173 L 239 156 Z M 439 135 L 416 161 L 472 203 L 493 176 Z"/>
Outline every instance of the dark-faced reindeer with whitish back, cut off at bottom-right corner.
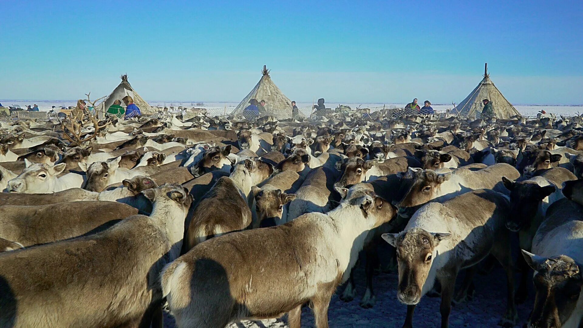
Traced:
<path fill-rule="evenodd" d="M 583 180 L 564 183 L 568 199 L 549 207 L 532 242 L 522 250 L 535 271 L 535 303 L 529 327 L 578 328 L 583 324 Z M 554 208 L 553 208 L 554 207 Z"/>

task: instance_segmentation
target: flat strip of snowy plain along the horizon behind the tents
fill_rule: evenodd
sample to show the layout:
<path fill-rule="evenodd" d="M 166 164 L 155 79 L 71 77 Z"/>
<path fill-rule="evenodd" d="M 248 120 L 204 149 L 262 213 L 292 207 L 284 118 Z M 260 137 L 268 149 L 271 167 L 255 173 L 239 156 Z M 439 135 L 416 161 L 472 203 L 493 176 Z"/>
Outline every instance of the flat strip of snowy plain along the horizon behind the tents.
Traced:
<path fill-rule="evenodd" d="M 38 108 L 42 111 L 51 110 L 52 106 L 75 106 L 76 100 L 2 100 L 0 99 L 0 103 L 3 106 L 12 106 L 13 104 L 18 104 L 22 108 L 26 108 L 26 105 L 33 105 L 37 104 Z M 180 101 L 168 101 L 168 102 L 149 102 L 152 106 L 185 106 L 185 107 L 203 107 L 206 109 L 215 109 L 217 113 L 230 113 L 238 105 L 237 102 L 202 102 L 203 105 L 197 106 L 197 102 L 180 102 Z M 339 103 L 339 102 L 326 102 L 326 107 L 336 108 L 338 104 L 345 104 L 347 106 L 352 107 L 353 109 L 356 107 L 360 108 L 370 108 L 370 109 L 377 109 L 382 108 L 384 105 L 387 107 L 405 107 L 405 104 L 402 103 Z M 312 103 L 305 103 L 305 102 L 298 102 L 297 106 L 300 108 L 303 107 L 311 107 Z M 442 104 L 435 104 L 431 105 L 435 110 L 446 110 L 452 109 L 454 106 L 450 105 L 442 105 Z M 579 114 L 583 114 L 583 105 L 514 105 L 514 107 L 524 116 L 536 116 L 538 111 L 544 109 L 547 113 L 554 113 L 563 116 L 574 116 Z M 220 110 L 224 109 L 224 110 Z"/>

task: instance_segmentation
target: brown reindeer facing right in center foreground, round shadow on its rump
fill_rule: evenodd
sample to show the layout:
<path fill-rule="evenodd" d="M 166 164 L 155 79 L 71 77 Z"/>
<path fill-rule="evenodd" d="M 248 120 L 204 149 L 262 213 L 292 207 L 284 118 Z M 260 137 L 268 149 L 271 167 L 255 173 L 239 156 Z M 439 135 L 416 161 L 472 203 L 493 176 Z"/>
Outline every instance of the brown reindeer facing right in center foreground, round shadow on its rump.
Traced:
<path fill-rule="evenodd" d="M 213 238 L 166 266 L 163 294 L 178 327 L 223 328 L 287 312 L 288 326 L 299 328 L 301 306 L 310 301 L 315 326 L 328 328 L 330 298 L 348 278 L 366 232 L 391 217 L 370 185 L 339 192 L 342 201 L 327 214 Z"/>

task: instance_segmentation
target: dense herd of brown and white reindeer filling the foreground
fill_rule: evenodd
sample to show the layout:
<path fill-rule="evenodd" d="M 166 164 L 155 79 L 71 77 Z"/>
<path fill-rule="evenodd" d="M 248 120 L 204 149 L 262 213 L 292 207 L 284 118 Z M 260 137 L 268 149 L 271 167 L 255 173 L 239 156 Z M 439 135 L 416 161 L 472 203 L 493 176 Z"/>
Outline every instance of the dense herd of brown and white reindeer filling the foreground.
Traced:
<path fill-rule="evenodd" d="M 309 305 L 326 328 L 359 263 L 374 307 L 380 261 L 403 327 L 428 294 L 448 327 L 498 265 L 501 326 L 583 327 L 577 122 L 338 115 L 0 122 L 0 327 L 299 328 Z"/>

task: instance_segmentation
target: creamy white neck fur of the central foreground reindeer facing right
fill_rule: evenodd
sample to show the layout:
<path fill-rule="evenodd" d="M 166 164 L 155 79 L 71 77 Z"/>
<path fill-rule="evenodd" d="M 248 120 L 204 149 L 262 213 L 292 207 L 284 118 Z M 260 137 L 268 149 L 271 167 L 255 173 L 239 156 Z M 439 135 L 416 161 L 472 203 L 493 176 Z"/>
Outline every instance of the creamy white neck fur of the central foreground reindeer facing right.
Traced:
<path fill-rule="evenodd" d="M 340 203 L 327 215 L 331 218 L 330 225 L 336 235 L 328 235 L 326 238 L 333 238 L 329 242 L 333 245 L 338 268 L 342 270 L 342 282 L 345 282 L 358 260 L 371 227 L 363 217 L 363 211 L 355 205 Z"/>

